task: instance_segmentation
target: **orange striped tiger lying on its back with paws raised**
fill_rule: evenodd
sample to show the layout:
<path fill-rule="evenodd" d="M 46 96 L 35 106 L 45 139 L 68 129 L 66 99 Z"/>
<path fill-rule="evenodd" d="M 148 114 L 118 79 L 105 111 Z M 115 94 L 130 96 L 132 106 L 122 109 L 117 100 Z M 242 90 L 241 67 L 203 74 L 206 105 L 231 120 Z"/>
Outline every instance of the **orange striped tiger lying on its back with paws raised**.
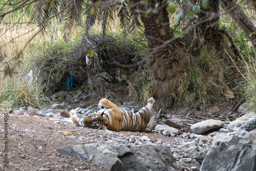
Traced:
<path fill-rule="evenodd" d="M 101 99 L 98 106 L 100 110 L 97 113 L 90 114 L 84 118 L 78 118 L 75 110 L 70 111 L 71 119 L 74 123 L 91 127 L 92 129 L 108 129 L 110 131 L 132 131 L 145 133 L 160 133 L 165 136 L 177 136 L 164 134 L 155 130 L 147 129 L 152 113 L 151 110 L 155 104 L 155 99 L 151 97 L 147 100 L 147 105 L 137 113 L 119 109 L 114 103 L 104 98 Z"/>

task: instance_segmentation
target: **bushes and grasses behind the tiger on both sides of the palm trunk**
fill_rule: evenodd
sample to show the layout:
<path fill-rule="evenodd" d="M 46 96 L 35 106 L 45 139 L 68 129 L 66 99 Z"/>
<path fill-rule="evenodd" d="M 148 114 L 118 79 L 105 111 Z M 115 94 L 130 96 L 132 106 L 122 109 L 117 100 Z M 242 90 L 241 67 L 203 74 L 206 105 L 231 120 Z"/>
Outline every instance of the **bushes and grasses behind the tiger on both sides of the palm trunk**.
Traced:
<path fill-rule="evenodd" d="M 255 22 L 254 9 L 244 2 L 239 2 L 239 5 L 252 22 Z M 31 22 L 33 8 L 32 5 L 26 10 L 14 11 L 4 16 L 0 23 L 3 67 L 0 80 L 1 108 L 12 108 L 16 104 L 17 106 L 46 105 L 49 102 L 48 96 L 66 89 L 65 82 L 71 74 L 80 76 L 77 80 L 79 89 L 98 88 L 111 91 L 109 85 L 118 84 L 129 92 L 133 100 L 142 102 L 154 96 L 148 75 L 150 69 L 145 65 L 145 57 L 148 54 L 143 31 L 139 30 L 133 35 L 125 33 L 126 36 L 123 37 L 124 28 L 118 25 L 120 18 L 113 18 L 113 22 L 109 22 L 109 30 L 102 30 L 100 25 L 91 26 L 88 37 L 101 48 L 94 51 L 98 56 L 95 60 L 98 60 L 100 66 L 88 67 L 86 55 L 91 47 L 84 40 L 83 29 L 74 22 L 72 32 L 62 32 L 65 26 L 58 25 L 58 18 L 52 18 L 49 20 L 45 34 L 37 34 L 40 27 L 38 28 L 36 23 L 28 25 L 28 22 Z M 223 9 L 220 10 L 223 12 Z M 182 14 L 182 9 L 176 3 L 169 6 L 169 11 L 171 28 L 175 36 L 183 37 L 184 23 L 192 14 L 187 13 L 186 19 L 181 17 L 185 14 Z M 2 9 L 1 13 L 3 12 Z M 183 20 L 177 20 L 179 17 Z M 87 20 L 86 16 L 82 19 Z M 246 94 L 251 109 L 256 109 L 254 47 L 228 14 L 220 17 L 218 27 L 226 28 L 240 50 L 242 58 L 235 60 L 236 57 L 226 37 L 220 50 L 206 44 L 194 54 L 196 65 L 200 70 L 191 68 L 182 75 L 178 89 L 175 92 L 170 91 L 169 94 L 180 99 L 175 104 L 177 106 L 205 108 L 225 101 L 225 90 L 231 90 L 236 98 Z M 65 42 L 67 37 L 69 41 Z M 27 42 L 29 44 L 26 46 Z M 23 53 L 17 58 L 20 51 Z M 114 66 L 112 61 L 116 61 Z M 118 65 L 120 63 L 132 67 Z M 6 68 L 10 68 L 12 72 L 6 72 L 9 71 Z M 37 77 L 32 84 L 26 79 L 31 69 Z"/>

